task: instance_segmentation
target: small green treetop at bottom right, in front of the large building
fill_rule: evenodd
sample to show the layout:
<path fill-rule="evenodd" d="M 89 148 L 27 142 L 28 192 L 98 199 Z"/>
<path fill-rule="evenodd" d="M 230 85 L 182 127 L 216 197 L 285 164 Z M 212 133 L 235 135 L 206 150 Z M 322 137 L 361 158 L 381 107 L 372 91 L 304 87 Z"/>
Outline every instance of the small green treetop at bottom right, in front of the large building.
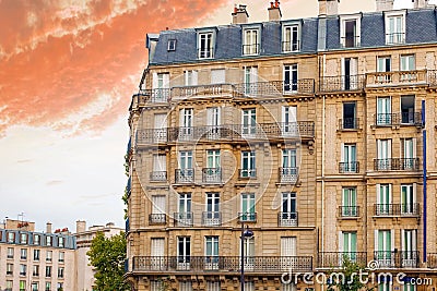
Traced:
<path fill-rule="evenodd" d="M 340 279 L 340 274 L 344 280 Z M 374 288 L 369 288 L 369 283 L 366 283 L 369 276 L 370 272 L 366 270 L 365 265 L 351 260 L 349 256 L 343 256 L 343 267 L 328 274 L 330 279 L 327 291 L 373 291 Z"/>

